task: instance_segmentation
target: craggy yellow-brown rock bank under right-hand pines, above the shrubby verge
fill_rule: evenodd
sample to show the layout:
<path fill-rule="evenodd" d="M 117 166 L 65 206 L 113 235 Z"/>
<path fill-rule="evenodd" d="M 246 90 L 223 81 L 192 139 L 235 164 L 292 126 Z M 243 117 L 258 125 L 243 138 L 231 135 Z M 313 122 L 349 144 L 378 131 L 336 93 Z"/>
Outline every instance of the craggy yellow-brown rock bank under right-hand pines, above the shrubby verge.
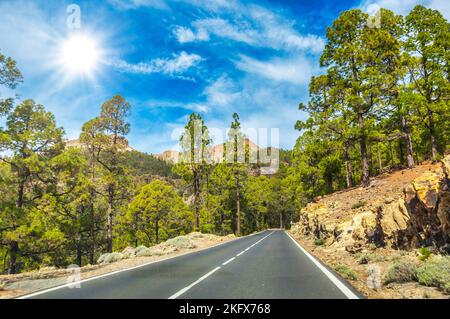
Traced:
<path fill-rule="evenodd" d="M 310 203 L 302 209 L 293 231 L 329 239 L 330 245 L 347 251 L 372 243 L 406 250 L 434 246 L 448 252 L 450 155 L 421 169 L 403 184 L 397 182 L 397 193 L 386 191 L 389 180 L 380 180 L 369 192 L 348 190 Z M 406 175 L 401 172 L 396 178 L 407 179 Z M 354 197 L 365 193 L 370 193 L 365 201 L 345 202 L 354 202 Z"/>

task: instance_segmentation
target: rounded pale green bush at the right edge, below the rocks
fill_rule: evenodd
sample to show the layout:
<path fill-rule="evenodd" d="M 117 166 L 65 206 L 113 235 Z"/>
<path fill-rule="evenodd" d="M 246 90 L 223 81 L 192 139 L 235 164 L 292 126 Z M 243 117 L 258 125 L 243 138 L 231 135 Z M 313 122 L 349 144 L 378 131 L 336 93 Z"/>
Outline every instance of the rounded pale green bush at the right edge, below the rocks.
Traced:
<path fill-rule="evenodd" d="M 450 256 L 432 257 L 416 269 L 417 281 L 450 293 Z"/>

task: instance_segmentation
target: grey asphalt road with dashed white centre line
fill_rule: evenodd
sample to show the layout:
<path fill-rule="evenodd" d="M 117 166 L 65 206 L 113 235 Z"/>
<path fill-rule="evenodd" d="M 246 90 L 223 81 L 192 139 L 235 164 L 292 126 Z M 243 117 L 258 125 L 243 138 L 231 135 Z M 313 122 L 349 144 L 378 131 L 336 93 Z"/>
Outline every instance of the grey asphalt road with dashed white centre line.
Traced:
<path fill-rule="evenodd" d="M 358 298 L 336 273 L 283 230 L 242 237 L 202 251 L 44 290 L 27 298 Z"/>

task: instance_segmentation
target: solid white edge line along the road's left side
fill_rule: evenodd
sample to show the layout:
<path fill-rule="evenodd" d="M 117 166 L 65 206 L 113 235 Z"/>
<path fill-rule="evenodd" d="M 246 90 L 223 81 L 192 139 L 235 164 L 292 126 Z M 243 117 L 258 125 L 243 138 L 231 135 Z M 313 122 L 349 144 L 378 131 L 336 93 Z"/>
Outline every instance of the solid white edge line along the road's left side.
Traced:
<path fill-rule="evenodd" d="M 84 283 L 84 282 L 88 282 L 88 281 L 91 281 L 91 280 L 95 280 L 95 279 L 100 279 L 100 278 L 112 276 L 112 275 L 115 275 L 115 274 L 118 274 L 118 273 L 121 273 L 121 272 L 125 272 L 125 271 L 129 271 L 129 270 L 138 269 L 138 268 L 145 267 L 145 266 L 148 266 L 148 265 L 151 265 L 151 264 L 155 264 L 155 263 L 158 263 L 158 262 L 170 260 L 170 259 L 173 259 L 173 258 L 181 257 L 181 256 L 184 256 L 184 255 L 188 255 L 188 254 L 192 254 L 192 253 L 196 253 L 196 252 L 200 252 L 200 251 L 205 251 L 205 250 L 208 250 L 208 249 L 212 249 L 212 248 L 215 248 L 215 247 L 218 247 L 218 246 L 221 246 L 221 245 L 225 245 L 225 244 L 227 244 L 227 243 L 231 243 L 231 242 L 233 242 L 233 241 L 235 241 L 235 240 L 239 240 L 239 239 L 241 239 L 241 238 L 254 236 L 254 235 L 259 234 L 259 233 L 262 233 L 262 232 L 264 232 L 264 231 L 267 231 L 267 230 L 263 230 L 263 231 L 261 231 L 261 232 L 257 232 L 257 233 L 254 233 L 254 234 L 250 234 L 250 235 L 248 235 L 248 236 L 237 237 L 236 239 L 228 240 L 228 241 L 226 241 L 226 242 L 218 243 L 217 245 L 210 246 L 210 247 L 205 247 L 205 248 L 202 248 L 202 249 L 199 249 L 199 250 L 196 250 L 196 251 L 187 251 L 187 252 L 182 253 L 182 254 L 180 254 L 180 255 L 171 256 L 171 257 L 167 257 L 167 258 L 163 258 L 163 259 L 159 259 L 159 260 L 153 260 L 153 261 L 150 261 L 150 262 L 148 262 L 148 263 L 144 263 L 144 264 L 141 264 L 141 265 L 133 266 L 133 267 L 130 267 L 130 268 L 120 269 L 120 270 L 108 272 L 108 273 L 106 273 L 106 274 L 102 274 L 102 275 L 98 275 L 98 276 L 93 276 L 93 277 L 90 277 L 90 278 L 82 279 L 82 280 L 80 280 L 80 281 L 71 282 L 71 283 L 59 285 L 59 286 L 56 286 L 56 287 L 52 287 L 52 288 L 47 288 L 47 289 L 39 290 L 39 291 L 36 291 L 36 292 L 32 292 L 32 293 L 30 293 L 30 294 L 26 294 L 26 295 L 23 295 L 23 296 L 16 297 L 16 298 L 14 298 L 14 299 L 28 299 L 28 298 L 31 298 L 31 297 L 34 297 L 34 296 L 39 296 L 39 295 L 45 294 L 45 293 L 47 293 L 47 292 L 59 290 L 59 289 L 62 289 L 62 288 L 67 288 L 67 287 L 70 287 L 70 286 L 73 287 L 73 286 L 76 286 L 76 285 L 78 285 L 78 284 L 82 284 L 82 283 Z M 270 234 L 269 234 L 269 235 L 270 235 Z M 267 236 L 266 236 L 266 237 L 267 237 Z M 264 237 L 264 238 L 265 238 L 265 237 Z M 72 289 L 78 289 L 78 288 L 72 288 Z"/>

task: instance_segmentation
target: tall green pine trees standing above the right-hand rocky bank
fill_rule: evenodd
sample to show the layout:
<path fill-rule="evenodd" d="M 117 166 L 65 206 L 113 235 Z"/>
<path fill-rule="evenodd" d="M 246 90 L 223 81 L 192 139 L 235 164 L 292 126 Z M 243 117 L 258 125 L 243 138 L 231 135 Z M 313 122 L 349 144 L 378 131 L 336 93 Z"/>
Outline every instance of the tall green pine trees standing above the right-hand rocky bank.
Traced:
<path fill-rule="evenodd" d="M 324 74 L 311 79 L 289 170 L 304 205 L 391 167 L 437 159 L 450 144 L 448 21 L 416 6 L 406 17 L 343 12 L 327 29 Z"/>

